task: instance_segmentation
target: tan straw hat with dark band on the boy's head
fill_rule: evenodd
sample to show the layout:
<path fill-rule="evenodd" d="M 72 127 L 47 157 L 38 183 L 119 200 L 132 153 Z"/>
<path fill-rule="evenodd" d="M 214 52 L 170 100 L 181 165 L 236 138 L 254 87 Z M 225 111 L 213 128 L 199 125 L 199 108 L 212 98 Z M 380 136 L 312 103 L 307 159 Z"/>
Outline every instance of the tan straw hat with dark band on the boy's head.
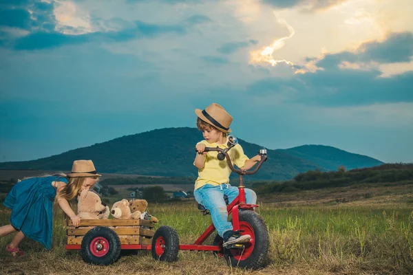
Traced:
<path fill-rule="evenodd" d="M 226 113 L 225 109 L 222 108 L 220 104 L 213 103 L 209 105 L 204 110 L 195 109 L 196 115 L 204 122 L 211 124 L 220 131 L 224 133 L 231 133 L 229 125 L 233 120 L 232 116 L 229 113 Z"/>

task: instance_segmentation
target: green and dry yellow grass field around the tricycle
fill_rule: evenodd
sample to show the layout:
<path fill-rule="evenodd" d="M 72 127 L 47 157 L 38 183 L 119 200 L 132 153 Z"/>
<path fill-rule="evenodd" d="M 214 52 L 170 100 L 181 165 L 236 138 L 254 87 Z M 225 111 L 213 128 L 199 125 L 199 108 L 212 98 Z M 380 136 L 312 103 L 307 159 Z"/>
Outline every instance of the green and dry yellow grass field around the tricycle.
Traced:
<path fill-rule="evenodd" d="M 110 198 L 112 201 L 116 198 Z M 65 251 L 61 217 L 47 251 L 25 240 L 27 256 L 14 259 L 0 239 L 3 274 L 413 274 L 413 186 L 375 184 L 260 197 L 257 209 L 271 237 L 266 266 L 231 268 L 211 252 L 180 252 L 176 263 L 153 261 L 149 252 L 125 252 L 113 265 L 87 265 L 79 252 Z M 180 243 L 195 241 L 211 222 L 195 202 L 152 204 L 160 225 L 175 228 Z M 0 208 L 0 224 L 10 210 Z M 212 243 L 212 238 L 209 243 Z"/>

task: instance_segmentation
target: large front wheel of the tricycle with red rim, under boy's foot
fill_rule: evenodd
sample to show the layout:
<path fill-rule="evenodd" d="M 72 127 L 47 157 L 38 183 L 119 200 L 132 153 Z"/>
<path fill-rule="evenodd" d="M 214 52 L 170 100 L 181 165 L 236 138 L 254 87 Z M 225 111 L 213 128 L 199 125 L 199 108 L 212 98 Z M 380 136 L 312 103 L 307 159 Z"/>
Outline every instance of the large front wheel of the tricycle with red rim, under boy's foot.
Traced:
<path fill-rule="evenodd" d="M 239 219 L 241 234 L 249 234 L 251 241 L 244 243 L 244 249 L 224 250 L 226 260 L 233 267 L 256 270 L 262 267 L 268 255 L 268 229 L 262 217 L 254 211 L 242 210 Z"/>

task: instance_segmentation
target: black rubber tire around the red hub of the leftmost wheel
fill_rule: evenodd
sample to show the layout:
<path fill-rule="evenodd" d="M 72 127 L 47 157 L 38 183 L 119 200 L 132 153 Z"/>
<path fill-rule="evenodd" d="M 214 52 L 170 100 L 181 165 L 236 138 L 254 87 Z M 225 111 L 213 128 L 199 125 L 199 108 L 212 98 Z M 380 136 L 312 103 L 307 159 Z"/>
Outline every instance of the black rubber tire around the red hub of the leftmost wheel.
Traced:
<path fill-rule="evenodd" d="M 104 256 L 95 256 L 90 250 L 92 241 L 102 237 L 109 243 L 109 251 Z M 94 265 L 110 265 L 118 260 L 120 254 L 120 239 L 118 234 L 110 228 L 98 226 L 89 230 L 85 236 L 83 236 L 81 243 L 81 254 L 83 261 L 86 263 L 92 263 Z"/>

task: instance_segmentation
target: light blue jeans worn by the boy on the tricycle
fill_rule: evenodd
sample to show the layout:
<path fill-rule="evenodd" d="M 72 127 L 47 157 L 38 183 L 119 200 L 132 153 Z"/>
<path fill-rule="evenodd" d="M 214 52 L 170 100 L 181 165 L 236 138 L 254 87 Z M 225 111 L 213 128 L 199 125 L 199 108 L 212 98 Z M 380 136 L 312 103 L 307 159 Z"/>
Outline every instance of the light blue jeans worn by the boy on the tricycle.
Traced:
<path fill-rule="evenodd" d="M 237 187 L 231 185 L 228 186 L 229 188 L 227 188 L 225 184 L 222 184 L 221 186 L 205 184 L 193 191 L 196 201 L 211 212 L 213 225 L 220 236 L 223 236 L 224 232 L 228 230 L 233 230 L 232 223 L 228 221 L 228 212 L 226 211 L 224 195 L 228 196 L 228 201 L 231 203 L 239 193 Z M 246 203 L 251 204 L 257 203 L 257 195 L 255 195 L 253 190 L 245 188 L 245 201 Z"/>

